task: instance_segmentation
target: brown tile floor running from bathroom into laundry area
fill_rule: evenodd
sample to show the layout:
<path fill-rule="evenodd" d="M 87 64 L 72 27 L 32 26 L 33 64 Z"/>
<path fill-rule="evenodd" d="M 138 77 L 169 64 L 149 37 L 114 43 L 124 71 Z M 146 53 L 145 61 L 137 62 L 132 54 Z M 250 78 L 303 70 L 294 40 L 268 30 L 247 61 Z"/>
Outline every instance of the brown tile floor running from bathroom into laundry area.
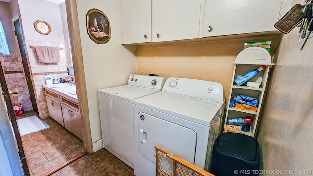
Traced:
<path fill-rule="evenodd" d="M 84 153 L 81 140 L 52 118 L 44 121 L 50 128 L 22 136 L 31 176 L 41 176 Z M 51 176 L 134 176 L 134 170 L 107 150 L 101 149 L 80 157 Z"/>

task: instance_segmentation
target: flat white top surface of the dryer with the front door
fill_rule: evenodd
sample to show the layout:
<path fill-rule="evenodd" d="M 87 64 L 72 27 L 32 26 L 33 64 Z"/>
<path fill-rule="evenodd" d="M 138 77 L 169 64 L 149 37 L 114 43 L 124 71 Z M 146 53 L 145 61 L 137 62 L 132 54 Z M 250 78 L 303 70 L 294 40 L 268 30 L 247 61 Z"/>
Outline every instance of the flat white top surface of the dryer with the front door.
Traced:
<path fill-rule="evenodd" d="M 206 100 L 171 92 L 159 91 L 134 100 L 139 105 L 185 120 L 210 126 L 213 117 L 220 113 L 225 101 Z M 161 117 L 160 117 L 161 118 Z"/>

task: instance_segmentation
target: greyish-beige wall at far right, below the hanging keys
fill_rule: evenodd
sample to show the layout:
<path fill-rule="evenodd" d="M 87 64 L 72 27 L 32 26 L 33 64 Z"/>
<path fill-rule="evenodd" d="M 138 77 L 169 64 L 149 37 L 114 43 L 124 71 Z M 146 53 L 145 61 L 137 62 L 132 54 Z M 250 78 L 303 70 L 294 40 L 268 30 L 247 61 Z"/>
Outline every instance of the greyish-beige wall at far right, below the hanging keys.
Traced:
<path fill-rule="evenodd" d="M 302 51 L 298 40 L 298 27 L 283 36 L 268 86 L 258 136 L 264 170 L 313 169 L 313 39 Z"/>

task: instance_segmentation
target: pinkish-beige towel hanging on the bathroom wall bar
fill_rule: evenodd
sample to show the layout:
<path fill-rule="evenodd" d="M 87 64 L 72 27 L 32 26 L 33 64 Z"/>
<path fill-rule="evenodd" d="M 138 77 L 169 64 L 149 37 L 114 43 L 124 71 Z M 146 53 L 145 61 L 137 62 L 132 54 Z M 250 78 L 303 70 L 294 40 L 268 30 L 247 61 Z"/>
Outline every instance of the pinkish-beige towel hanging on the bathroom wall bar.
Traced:
<path fill-rule="evenodd" d="M 60 62 L 60 53 L 58 47 L 35 46 L 39 62 L 57 63 Z"/>

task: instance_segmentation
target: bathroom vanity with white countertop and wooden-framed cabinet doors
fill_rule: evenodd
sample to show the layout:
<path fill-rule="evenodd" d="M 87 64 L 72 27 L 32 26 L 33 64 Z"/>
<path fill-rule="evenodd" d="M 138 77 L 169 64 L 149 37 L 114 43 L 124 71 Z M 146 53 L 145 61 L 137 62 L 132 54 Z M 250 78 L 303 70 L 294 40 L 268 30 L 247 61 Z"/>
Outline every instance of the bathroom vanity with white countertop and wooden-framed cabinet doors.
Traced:
<path fill-rule="evenodd" d="M 49 115 L 69 132 L 83 140 L 83 128 L 76 87 L 68 83 L 43 85 Z"/>

